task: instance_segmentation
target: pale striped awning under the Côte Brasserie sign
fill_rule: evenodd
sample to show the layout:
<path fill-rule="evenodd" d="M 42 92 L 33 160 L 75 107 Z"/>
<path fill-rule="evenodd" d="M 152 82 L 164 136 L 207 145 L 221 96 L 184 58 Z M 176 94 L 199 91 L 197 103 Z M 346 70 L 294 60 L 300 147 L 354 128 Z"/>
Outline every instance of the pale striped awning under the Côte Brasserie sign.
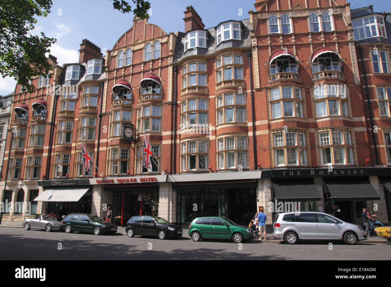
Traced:
<path fill-rule="evenodd" d="M 89 187 L 48 188 L 34 201 L 79 201 L 88 189 Z"/>

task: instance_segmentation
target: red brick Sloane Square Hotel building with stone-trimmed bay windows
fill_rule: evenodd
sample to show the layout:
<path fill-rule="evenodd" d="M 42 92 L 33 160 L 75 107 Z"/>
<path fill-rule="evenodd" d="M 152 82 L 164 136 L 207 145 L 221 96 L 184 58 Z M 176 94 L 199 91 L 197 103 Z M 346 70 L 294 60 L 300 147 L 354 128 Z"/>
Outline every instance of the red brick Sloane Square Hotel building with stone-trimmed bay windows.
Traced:
<path fill-rule="evenodd" d="M 30 144 L 41 134 L 29 111 L 45 92 L 21 93 L 18 85 L 13 108 L 24 118 L 13 123 L 26 134 L 6 151 L 13 162 L 4 198 L 31 201 L 39 190 L 37 212 L 106 216 L 112 207 L 119 225 L 152 214 L 157 200 L 159 216 L 183 224 L 209 215 L 247 225 L 262 207 L 270 226 L 277 202 L 357 224 L 357 210 L 376 203 L 387 222 L 387 143 L 377 137 L 378 150 L 371 141 L 350 4 L 269 0 L 255 8 L 249 19 L 205 29 L 190 6 L 184 31 L 169 34 L 135 18 L 105 57 L 83 40 L 78 63 L 54 63 L 50 81 L 77 91 L 42 97 L 49 114 L 42 147 Z M 382 45 L 389 69 L 389 44 Z M 386 91 L 387 73 L 373 85 Z M 386 117 L 375 117 L 386 137 Z M 156 155 L 150 170 L 144 136 Z M 83 171 L 79 139 L 99 171 Z"/>

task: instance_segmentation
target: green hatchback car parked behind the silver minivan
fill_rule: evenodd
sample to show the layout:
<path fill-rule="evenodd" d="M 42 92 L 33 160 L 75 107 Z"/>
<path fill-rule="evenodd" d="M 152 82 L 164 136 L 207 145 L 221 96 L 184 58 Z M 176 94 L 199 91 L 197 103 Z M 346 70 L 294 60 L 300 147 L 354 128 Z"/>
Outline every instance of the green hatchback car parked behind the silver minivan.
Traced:
<path fill-rule="evenodd" d="M 254 239 L 251 228 L 237 225 L 224 217 L 197 217 L 190 223 L 189 236 L 193 241 L 201 239 L 228 239 L 235 243 Z"/>

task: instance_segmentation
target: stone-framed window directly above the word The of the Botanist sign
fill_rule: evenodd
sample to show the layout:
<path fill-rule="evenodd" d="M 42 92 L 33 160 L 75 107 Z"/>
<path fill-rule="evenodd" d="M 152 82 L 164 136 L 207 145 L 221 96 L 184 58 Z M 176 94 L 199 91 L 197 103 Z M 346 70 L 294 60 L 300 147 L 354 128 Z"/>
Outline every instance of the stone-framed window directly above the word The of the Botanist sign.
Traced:
<path fill-rule="evenodd" d="M 306 166 L 305 134 L 283 132 L 273 134 L 274 166 Z"/>

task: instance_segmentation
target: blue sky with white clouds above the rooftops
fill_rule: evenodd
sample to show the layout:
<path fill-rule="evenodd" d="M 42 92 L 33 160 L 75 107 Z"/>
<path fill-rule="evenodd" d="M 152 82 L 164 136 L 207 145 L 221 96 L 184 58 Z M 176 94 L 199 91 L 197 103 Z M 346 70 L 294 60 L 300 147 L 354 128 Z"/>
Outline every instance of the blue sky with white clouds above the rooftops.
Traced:
<path fill-rule="evenodd" d="M 315 1 L 315 0 L 310 0 Z M 350 2 L 351 7 L 368 5 L 368 0 Z M 131 0 L 127 2 L 133 4 Z M 183 31 L 183 11 L 193 5 L 206 28 L 214 27 L 226 20 L 248 19 L 248 11 L 255 10 L 255 0 L 149 0 L 151 17 L 149 23 L 160 26 L 165 32 Z M 390 2 L 375 0 L 375 12 L 391 11 Z M 60 10 L 59 10 L 60 9 Z M 241 9 L 241 10 L 240 10 Z M 109 0 L 53 0 L 51 13 L 47 18 L 38 18 L 34 34 L 44 32 L 55 37 L 57 43 L 51 54 L 57 57 L 59 65 L 77 62 L 82 39 L 87 38 L 104 50 L 111 50 L 118 38 L 133 24 L 133 14 L 122 14 L 113 9 Z M 12 93 L 16 82 L 12 78 L 0 77 L 0 95 Z"/>

